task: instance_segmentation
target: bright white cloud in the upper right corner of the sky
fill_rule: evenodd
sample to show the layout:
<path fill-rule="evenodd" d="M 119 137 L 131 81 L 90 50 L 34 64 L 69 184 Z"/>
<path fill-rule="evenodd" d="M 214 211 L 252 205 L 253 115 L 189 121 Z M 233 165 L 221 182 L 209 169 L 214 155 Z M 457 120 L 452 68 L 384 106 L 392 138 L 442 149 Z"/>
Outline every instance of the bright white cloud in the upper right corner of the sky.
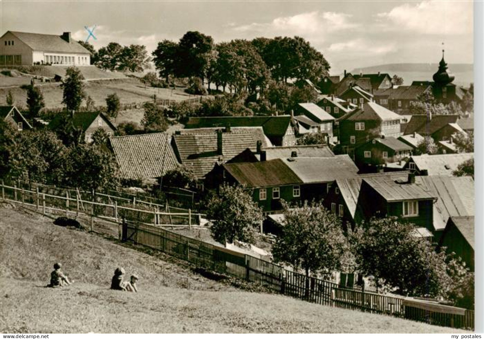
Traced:
<path fill-rule="evenodd" d="M 423 1 L 405 3 L 376 17 L 389 30 L 455 35 L 472 33 L 472 14 L 472 1 Z"/>

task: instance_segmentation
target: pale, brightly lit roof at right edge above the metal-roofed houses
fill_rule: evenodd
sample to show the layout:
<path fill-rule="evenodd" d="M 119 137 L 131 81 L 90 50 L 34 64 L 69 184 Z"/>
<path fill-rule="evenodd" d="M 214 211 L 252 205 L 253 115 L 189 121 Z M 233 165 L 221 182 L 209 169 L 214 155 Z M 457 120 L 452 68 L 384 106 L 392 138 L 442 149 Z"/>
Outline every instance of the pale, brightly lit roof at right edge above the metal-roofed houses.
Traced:
<path fill-rule="evenodd" d="M 412 155 L 408 162 L 413 161 L 418 170 L 427 170 L 428 175 L 448 175 L 464 161 L 474 157 L 474 153 L 458 154 L 422 154 Z"/>

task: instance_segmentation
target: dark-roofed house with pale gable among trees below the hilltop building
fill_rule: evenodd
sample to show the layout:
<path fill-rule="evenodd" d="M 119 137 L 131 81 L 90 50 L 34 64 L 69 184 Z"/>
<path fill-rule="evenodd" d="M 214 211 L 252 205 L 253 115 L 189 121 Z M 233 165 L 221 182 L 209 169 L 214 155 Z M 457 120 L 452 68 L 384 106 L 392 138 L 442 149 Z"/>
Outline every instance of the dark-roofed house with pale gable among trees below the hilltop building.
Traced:
<path fill-rule="evenodd" d="M 110 137 L 116 132 L 116 127 L 109 121 L 109 119 L 101 112 L 84 112 L 84 113 L 63 113 L 57 114 L 49 123 L 48 127 L 56 130 L 61 125 L 70 124 L 79 133 L 84 135 L 84 141 L 89 143 L 92 141 L 92 134 L 98 129 L 102 128 Z"/>

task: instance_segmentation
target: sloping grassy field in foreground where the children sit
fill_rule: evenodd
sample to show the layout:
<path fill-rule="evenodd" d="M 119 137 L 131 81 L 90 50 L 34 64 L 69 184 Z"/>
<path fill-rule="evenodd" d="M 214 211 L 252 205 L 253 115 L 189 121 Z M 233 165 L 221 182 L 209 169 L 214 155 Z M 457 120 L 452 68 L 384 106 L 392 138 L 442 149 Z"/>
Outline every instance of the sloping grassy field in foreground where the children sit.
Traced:
<path fill-rule="evenodd" d="M 54 262 L 74 283 L 44 286 Z M 109 290 L 114 268 L 139 293 Z M 452 333 L 459 330 L 235 289 L 162 253 L 148 255 L 0 204 L 3 333 Z"/>

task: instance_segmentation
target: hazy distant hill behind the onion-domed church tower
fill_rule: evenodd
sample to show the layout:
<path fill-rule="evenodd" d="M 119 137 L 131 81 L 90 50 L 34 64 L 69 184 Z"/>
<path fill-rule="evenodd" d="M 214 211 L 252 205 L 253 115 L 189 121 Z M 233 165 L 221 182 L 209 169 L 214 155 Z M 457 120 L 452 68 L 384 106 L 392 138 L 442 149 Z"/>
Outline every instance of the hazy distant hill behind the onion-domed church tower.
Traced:
<path fill-rule="evenodd" d="M 474 65 L 471 63 L 452 63 L 448 65 L 449 71 L 455 76 L 454 84 L 469 87 L 474 82 Z M 405 85 L 415 80 L 432 81 L 432 76 L 439 68 L 438 63 L 389 63 L 371 67 L 355 68 L 352 74 L 362 73 L 388 73 L 391 77 L 397 74 L 402 77 Z"/>

